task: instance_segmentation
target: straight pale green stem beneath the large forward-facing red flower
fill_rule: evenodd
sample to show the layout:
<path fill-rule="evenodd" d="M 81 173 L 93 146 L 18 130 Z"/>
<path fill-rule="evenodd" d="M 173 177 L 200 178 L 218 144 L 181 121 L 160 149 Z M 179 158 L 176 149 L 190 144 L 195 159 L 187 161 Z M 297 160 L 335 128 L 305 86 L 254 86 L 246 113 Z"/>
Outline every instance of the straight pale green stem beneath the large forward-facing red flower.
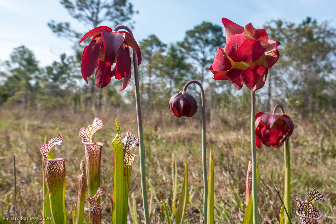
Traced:
<path fill-rule="evenodd" d="M 257 152 L 255 145 L 255 91 L 251 97 L 252 208 L 253 223 L 258 224 Z"/>

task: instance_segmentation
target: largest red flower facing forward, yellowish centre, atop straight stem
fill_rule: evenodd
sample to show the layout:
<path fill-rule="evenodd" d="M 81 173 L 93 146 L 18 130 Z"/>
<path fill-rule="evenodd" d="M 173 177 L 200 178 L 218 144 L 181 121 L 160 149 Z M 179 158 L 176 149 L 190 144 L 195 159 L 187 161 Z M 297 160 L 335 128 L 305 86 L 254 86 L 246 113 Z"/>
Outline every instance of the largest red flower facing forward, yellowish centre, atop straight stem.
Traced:
<path fill-rule="evenodd" d="M 217 48 L 209 68 L 215 80 L 229 80 L 238 90 L 245 84 L 251 91 L 264 86 L 268 69 L 279 59 L 278 41 L 268 39 L 265 29 L 251 23 L 239 26 L 222 18 L 226 46 Z"/>

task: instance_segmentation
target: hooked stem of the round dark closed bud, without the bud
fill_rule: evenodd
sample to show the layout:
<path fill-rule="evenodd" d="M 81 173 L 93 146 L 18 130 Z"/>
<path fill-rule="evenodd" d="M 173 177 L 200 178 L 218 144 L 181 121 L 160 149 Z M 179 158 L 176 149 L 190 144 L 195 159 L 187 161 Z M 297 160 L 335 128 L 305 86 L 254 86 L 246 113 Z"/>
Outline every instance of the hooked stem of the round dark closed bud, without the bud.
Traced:
<path fill-rule="evenodd" d="M 208 200 L 208 178 L 207 178 L 207 156 L 205 151 L 205 98 L 204 98 L 204 89 L 202 84 L 199 81 L 192 80 L 185 84 L 183 91 L 186 91 L 187 87 L 196 83 L 200 86 L 201 89 L 201 101 L 202 101 L 202 165 L 203 165 L 203 209 L 204 209 L 204 223 L 207 220 L 207 200 Z"/>

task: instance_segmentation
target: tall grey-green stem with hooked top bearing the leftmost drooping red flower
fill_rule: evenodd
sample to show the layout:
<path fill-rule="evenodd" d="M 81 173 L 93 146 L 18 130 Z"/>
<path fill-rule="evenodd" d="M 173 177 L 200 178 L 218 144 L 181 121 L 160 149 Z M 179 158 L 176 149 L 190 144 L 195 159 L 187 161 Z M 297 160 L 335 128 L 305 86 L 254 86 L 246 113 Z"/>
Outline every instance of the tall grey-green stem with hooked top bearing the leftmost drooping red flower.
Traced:
<path fill-rule="evenodd" d="M 117 26 L 116 28 L 114 28 L 113 31 L 118 31 L 120 29 L 126 30 L 129 34 L 131 34 L 133 36 L 133 33 L 132 33 L 131 29 L 129 29 L 126 26 Z M 136 52 L 135 52 L 134 49 L 132 49 L 132 56 L 133 56 L 133 69 L 134 69 L 136 115 L 137 115 L 137 118 L 138 118 L 140 178 L 141 178 L 143 212 L 144 212 L 145 224 L 149 224 L 150 220 L 149 220 L 148 199 L 147 199 L 145 151 L 144 151 L 144 144 L 143 144 L 143 130 L 142 130 L 142 116 L 141 116 L 139 74 L 138 74 L 138 60 L 137 60 Z"/>

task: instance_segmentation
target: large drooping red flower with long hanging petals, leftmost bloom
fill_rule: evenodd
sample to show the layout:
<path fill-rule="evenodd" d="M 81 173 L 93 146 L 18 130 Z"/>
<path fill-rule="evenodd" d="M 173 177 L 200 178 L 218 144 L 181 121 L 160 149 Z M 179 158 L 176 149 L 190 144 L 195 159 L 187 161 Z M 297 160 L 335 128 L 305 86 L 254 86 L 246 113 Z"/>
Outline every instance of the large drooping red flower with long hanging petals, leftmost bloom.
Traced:
<path fill-rule="evenodd" d="M 96 86 L 107 86 L 111 78 L 122 79 L 123 83 L 119 91 L 126 88 L 131 79 L 131 53 L 129 47 L 135 50 L 138 65 L 141 63 L 139 45 L 133 36 L 126 31 L 113 31 L 106 26 L 100 26 L 87 32 L 78 44 L 84 39 L 92 37 L 90 44 L 84 48 L 81 71 L 84 80 L 90 77 L 95 68 Z M 116 63 L 113 69 L 112 64 Z"/>

